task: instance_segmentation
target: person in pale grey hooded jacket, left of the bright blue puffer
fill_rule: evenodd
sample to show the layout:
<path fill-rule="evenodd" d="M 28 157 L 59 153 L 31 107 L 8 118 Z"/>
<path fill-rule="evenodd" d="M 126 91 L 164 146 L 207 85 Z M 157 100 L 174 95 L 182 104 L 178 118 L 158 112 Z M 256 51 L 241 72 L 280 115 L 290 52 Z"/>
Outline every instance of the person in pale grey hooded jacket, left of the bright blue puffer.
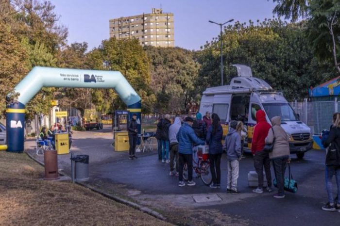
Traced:
<path fill-rule="evenodd" d="M 170 176 L 178 177 L 178 141 L 177 133 L 182 126 L 180 117 L 176 117 L 173 124 L 169 128 L 169 141 L 170 141 Z M 176 164 L 174 161 L 176 160 Z M 176 173 L 173 171 L 176 169 Z"/>

